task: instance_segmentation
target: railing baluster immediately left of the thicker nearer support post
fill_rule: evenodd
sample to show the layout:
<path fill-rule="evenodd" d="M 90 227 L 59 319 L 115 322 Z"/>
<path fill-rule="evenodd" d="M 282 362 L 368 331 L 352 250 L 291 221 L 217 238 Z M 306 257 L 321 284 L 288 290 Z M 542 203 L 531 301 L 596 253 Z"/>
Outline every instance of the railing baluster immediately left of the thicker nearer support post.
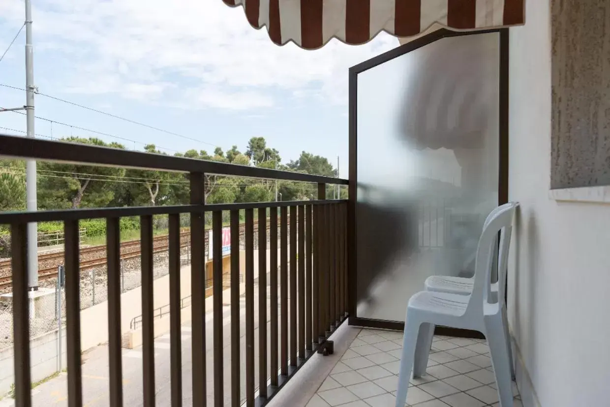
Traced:
<path fill-rule="evenodd" d="M 180 215 L 169 216 L 171 406 L 182 406 L 182 332 L 180 318 Z"/>

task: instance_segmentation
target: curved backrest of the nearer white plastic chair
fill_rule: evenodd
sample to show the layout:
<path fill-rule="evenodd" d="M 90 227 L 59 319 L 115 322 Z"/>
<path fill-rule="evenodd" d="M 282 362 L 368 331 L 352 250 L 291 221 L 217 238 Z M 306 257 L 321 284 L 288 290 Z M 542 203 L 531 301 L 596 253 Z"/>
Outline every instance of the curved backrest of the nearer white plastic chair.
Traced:
<path fill-rule="evenodd" d="M 483 312 L 483 304 L 489 303 L 493 253 L 497 246 L 500 232 L 500 247 L 498 248 L 498 303 L 504 301 L 506 292 L 506 269 L 508 250 L 511 243 L 512 222 L 517 203 L 508 203 L 497 207 L 487 217 L 483 232 L 476 248 L 475 281 L 472 295 L 468 301 L 467 312 Z"/>

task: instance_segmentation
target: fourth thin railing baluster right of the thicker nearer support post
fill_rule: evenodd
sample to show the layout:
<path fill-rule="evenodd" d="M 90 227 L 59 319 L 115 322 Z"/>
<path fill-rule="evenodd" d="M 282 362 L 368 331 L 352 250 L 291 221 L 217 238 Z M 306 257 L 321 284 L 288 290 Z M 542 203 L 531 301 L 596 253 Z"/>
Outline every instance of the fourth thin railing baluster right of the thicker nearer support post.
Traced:
<path fill-rule="evenodd" d="M 267 209 L 259 208 L 259 395 L 267 397 Z"/>

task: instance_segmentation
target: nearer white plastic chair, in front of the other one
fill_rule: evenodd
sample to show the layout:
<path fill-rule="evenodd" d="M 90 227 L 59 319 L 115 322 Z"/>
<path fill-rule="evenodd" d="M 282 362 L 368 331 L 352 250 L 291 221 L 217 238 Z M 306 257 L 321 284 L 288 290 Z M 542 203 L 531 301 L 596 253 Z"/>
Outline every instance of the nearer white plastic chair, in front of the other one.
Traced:
<path fill-rule="evenodd" d="M 403 351 L 396 406 L 404 407 L 413 376 L 426 372 L 434 326 L 450 326 L 479 331 L 489 344 L 492 366 L 498 384 L 501 407 L 512 406 L 511 360 L 504 324 L 504 301 L 492 301 L 490 278 L 493 264 L 493 247 L 500 237 L 500 259 L 506 262 L 508 240 L 512 230 L 515 205 L 498 208 L 483 228 L 476 249 L 475 276 L 470 295 L 421 291 L 409 300 L 404 322 Z M 504 298 L 506 267 L 498 267 L 498 298 Z"/>

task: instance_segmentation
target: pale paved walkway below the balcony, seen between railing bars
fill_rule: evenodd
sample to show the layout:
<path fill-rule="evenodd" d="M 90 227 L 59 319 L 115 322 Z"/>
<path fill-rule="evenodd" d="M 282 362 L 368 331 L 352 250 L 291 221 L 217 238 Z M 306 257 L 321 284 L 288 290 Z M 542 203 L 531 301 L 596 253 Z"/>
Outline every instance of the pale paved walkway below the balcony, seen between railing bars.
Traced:
<path fill-rule="evenodd" d="M 254 326 L 255 326 L 255 383 L 258 383 L 258 284 L 254 285 Z M 267 287 L 267 297 L 269 287 Z M 267 301 L 267 319 L 269 318 Z M 206 378 L 208 404 L 213 405 L 213 321 L 212 310 L 206 313 Z M 279 309 L 278 309 L 279 314 Z M 240 365 L 242 400 L 245 398 L 245 297 L 240 298 Z M 224 405 L 231 405 L 231 307 L 223 307 L 223 365 L 224 365 Z M 267 321 L 267 333 L 270 332 Z M 269 334 L 267 335 L 267 342 Z M 158 406 L 170 405 L 170 335 L 164 334 L 155 340 L 155 373 Z M 109 406 L 108 347 L 100 345 L 83 355 L 83 405 L 86 407 Z M 268 371 L 268 369 L 267 369 Z M 123 350 L 123 394 L 124 405 L 135 407 L 143 404 L 142 397 L 142 348 Z M 40 384 L 32 390 L 34 405 L 67 406 L 67 376 L 59 376 Z M 182 399 L 184 406 L 192 405 L 192 343 L 191 323 L 182 325 Z M 12 405 L 12 400 L 0 401 L 0 406 Z"/>

